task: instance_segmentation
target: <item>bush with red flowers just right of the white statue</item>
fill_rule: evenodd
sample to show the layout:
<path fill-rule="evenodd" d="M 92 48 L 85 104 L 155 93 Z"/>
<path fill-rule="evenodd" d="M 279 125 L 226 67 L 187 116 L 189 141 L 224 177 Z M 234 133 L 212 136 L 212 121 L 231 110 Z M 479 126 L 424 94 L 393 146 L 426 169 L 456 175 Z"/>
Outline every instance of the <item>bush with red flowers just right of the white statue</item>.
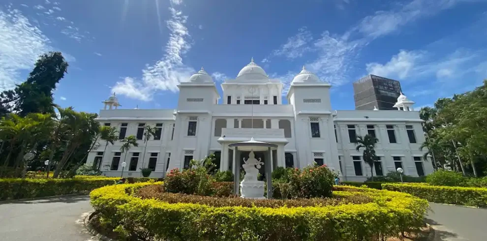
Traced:
<path fill-rule="evenodd" d="M 331 197 L 335 174 L 326 165 L 319 167 L 298 168 L 291 171 L 289 177 L 292 197 L 312 198 Z"/>

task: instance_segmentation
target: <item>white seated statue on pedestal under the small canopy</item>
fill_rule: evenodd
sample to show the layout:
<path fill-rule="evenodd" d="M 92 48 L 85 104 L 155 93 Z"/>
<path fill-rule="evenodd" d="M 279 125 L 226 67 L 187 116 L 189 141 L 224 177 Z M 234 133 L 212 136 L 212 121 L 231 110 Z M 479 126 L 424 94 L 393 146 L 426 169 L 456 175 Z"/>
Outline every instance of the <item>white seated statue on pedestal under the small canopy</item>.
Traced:
<path fill-rule="evenodd" d="M 264 182 L 257 181 L 257 175 L 259 175 L 259 169 L 264 165 L 262 159 L 255 159 L 253 151 L 248 154 L 247 160 L 243 158 L 245 164 L 242 165 L 245 170 L 245 176 L 243 181 L 240 182 L 240 192 L 243 198 L 264 198 Z"/>

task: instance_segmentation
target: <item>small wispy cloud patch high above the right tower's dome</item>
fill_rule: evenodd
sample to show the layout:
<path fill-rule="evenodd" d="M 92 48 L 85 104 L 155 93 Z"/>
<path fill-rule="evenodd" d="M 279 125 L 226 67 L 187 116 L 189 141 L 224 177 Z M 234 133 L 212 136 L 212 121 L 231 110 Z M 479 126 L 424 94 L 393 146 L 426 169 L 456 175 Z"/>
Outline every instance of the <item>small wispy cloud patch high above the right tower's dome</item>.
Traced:
<path fill-rule="evenodd" d="M 311 51 L 308 45 L 313 40 L 311 32 L 306 28 L 300 28 L 298 33 L 287 39 L 279 49 L 274 50 L 274 56 L 285 56 L 288 59 L 296 59 L 302 57 L 304 53 Z"/>

